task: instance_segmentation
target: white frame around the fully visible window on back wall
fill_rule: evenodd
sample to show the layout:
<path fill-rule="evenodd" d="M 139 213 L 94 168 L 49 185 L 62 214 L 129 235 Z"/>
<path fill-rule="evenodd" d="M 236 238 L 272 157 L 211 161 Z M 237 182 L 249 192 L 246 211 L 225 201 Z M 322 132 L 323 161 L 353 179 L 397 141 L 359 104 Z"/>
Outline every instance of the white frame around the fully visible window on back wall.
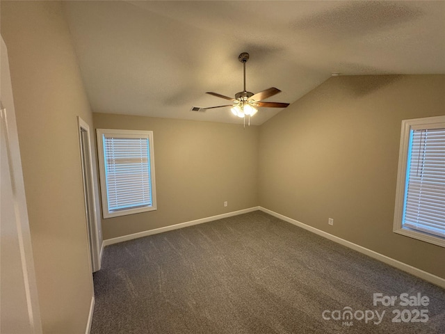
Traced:
<path fill-rule="evenodd" d="M 146 130 L 123 130 L 123 129 L 96 129 L 97 136 L 97 154 L 99 157 L 99 180 L 101 186 L 102 197 L 102 216 L 104 218 L 113 218 L 118 216 L 126 216 L 128 214 L 138 214 L 141 212 L 149 212 L 157 209 L 156 205 L 156 182 L 154 173 L 154 143 L 153 132 Z M 120 138 L 147 138 L 148 140 L 148 158 L 149 158 L 149 179 L 151 182 L 151 200 L 152 205 L 130 207 L 128 209 L 109 210 L 108 209 L 108 192 L 106 184 L 105 170 L 105 153 L 104 153 L 104 136 L 120 137 Z"/>

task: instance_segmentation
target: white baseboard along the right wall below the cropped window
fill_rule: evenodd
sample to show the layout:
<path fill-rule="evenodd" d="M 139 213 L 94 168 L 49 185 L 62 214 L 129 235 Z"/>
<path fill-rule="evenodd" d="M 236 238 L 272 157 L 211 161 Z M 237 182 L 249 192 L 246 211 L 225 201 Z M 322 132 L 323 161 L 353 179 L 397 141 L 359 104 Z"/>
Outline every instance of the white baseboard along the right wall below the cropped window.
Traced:
<path fill-rule="evenodd" d="M 321 237 L 325 237 L 326 239 L 330 239 L 334 242 L 337 242 L 337 244 L 341 244 L 341 245 L 351 248 L 353 250 L 357 250 L 357 252 L 359 252 L 359 253 L 363 253 L 364 255 L 373 257 L 375 260 L 379 260 L 381 262 L 389 264 L 392 267 L 396 267 L 397 269 L 406 271 L 407 273 L 410 273 L 414 276 L 422 278 L 423 280 L 426 280 L 432 284 L 438 285 L 439 287 L 442 287 L 445 289 L 445 279 L 444 278 L 440 278 L 439 276 L 435 276 L 432 273 L 428 273 L 421 269 L 417 269 L 416 267 L 412 267 L 412 266 L 410 266 L 410 264 L 406 264 L 406 263 L 400 262 L 398 260 L 394 260 L 391 257 L 387 257 L 386 255 L 377 253 L 374 250 L 364 248 L 362 246 L 354 244 L 353 242 L 347 241 L 345 239 L 341 239 L 339 237 L 336 237 L 336 236 L 329 234 L 327 232 L 324 232 L 322 230 L 318 230 L 317 228 L 313 228 L 312 226 L 301 223 L 300 221 L 296 221 L 295 219 L 283 216 L 282 214 L 277 214 L 277 212 L 270 211 L 269 209 L 266 209 L 264 207 L 259 207 L 259 209 L 262 212 L 266 212 L 266 214 L 270 214 L 271 216 L 280 218 L 282 221 L 286 221 L 288 223 L 296 225 L 299 228 L 304 228 L 305 230 L 308 230 L 310 232 L 318 234 Z"/>

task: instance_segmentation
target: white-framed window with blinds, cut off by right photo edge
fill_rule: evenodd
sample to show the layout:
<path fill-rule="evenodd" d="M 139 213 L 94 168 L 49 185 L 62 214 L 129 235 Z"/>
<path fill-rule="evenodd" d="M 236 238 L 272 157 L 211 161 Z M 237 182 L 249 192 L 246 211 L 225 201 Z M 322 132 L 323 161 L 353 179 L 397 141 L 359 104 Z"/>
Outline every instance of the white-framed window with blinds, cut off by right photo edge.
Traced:
<path fill-rule="evenodd" d="M 445 116 L 402 122 L 394 232 L 445 247 Z"/>

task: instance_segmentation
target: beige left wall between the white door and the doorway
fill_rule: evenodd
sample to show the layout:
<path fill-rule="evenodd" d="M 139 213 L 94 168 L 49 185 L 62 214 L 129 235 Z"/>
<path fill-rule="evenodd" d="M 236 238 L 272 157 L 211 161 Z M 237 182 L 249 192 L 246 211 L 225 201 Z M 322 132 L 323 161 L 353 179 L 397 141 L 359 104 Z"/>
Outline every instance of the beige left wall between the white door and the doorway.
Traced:
<path fill-rule="evenodd" d="M 59 2 L 1 1 L 44 333 L 85 333 L 92 297 L 76 116 L 90 124 Z"/>

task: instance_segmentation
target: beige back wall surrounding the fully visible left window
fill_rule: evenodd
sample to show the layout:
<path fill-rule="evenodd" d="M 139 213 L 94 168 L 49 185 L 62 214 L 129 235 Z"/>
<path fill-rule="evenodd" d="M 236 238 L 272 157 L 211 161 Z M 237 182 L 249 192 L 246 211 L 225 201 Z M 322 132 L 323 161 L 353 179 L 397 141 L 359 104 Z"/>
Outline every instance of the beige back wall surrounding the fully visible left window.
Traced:
<path fill-rule="evenodd" d="M 158 209 L 102 220 L 104 239 L 258 205 L 258 127 L 93 115 L 96 129 L 152 130 L 154 136 Z"/>

